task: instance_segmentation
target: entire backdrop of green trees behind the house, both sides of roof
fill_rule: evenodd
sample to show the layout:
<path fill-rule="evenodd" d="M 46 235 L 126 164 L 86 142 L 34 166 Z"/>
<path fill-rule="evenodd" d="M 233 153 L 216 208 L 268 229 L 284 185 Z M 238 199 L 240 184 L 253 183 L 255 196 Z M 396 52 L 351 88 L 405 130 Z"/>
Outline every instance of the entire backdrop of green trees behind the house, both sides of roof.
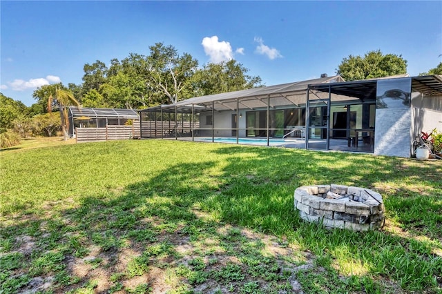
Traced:
<path fill-rule="evenodd" d="M 70 105 L 142 109 L 264 86 L 259 76 L 253 77 L 247 72 L 249 69 L 234 59 L 199 66 L 198 60 L 189 53 L 180 54 L 171 45 L 155 43 L 149 46 L 148 55 L 130 53 L 122 60 L 112 59 L 108 66 L 99 60 L 86 63 L 81 84 L 59 83 L 37 88 L 32 94 L 36 103 L 30 107 L 0 93 L 0 133 L 11 130 L 20 136 L 50 136 L 63 130 L 66 136 Z M 364 56 L 349 55 L 336 69 L 336 74 L 346 81 L 406 72 L 407 61 L 401 55 L 383 55 L 381 50 Z M 420 75 L 437 74 L 442 74 L 442 62 Z M 59 112 L 54 116 L 52 110 Z"/>

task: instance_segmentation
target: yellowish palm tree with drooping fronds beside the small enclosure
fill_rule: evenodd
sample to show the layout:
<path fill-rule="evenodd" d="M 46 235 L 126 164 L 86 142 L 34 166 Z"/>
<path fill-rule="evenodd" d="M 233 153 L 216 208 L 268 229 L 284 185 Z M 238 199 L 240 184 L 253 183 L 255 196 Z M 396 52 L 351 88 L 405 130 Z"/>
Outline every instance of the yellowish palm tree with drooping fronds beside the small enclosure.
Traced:
<path fill-rule="evenodd" d="M 48 97 L 48 111 L 52 112 L 52 102 L 55 101 L 60 111 L 61 118 L 61 131 L 63 132 L 64 140 L 68 139 L 68 107 L 70 105 L 80 106 L 74 95 L 68 91 L 61 88 L 56 88 L 54 95 L 50 94 Z"/>

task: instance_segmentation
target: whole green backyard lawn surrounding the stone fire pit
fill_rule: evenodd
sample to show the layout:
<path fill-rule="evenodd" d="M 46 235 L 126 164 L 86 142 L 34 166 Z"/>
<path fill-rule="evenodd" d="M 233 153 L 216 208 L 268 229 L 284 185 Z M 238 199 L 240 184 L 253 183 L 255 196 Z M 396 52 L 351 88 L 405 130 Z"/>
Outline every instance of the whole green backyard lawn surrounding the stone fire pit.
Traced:
<path fill-rule="evenodd" d="M 0 160 L 0 293 L 442 292 L 440 161 L 166 140 Z M 383 230 L 303 222 L 294 189 L 330 183 L 378 190 Z"/>

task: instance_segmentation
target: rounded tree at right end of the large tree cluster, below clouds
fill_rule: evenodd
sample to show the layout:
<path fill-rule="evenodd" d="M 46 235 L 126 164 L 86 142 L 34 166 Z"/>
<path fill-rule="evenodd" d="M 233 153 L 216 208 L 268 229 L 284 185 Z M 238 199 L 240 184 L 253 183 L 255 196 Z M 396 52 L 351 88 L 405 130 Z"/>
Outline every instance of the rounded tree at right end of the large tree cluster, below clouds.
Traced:
<path fill-rule="evenodd" d="M 249 69 L 234 59 L 220 63 L 208 63 L 193 78 L 199 95 L 250 89 L 262 86 L 261 78 L 247 75 Z"/>

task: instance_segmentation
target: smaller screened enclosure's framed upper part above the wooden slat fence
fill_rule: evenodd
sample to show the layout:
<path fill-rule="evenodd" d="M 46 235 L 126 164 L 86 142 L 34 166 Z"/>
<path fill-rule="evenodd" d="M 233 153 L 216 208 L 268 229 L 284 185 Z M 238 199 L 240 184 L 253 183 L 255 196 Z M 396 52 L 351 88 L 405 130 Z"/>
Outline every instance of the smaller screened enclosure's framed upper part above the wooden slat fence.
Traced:
<path fill-rule="evenodd" d="M 69 135 L 75 135 L 75 128 L 105 128 L 124 126 L 128 121 L 139 121 L 137 110 L 120 108 L 69 107 Z"/>

